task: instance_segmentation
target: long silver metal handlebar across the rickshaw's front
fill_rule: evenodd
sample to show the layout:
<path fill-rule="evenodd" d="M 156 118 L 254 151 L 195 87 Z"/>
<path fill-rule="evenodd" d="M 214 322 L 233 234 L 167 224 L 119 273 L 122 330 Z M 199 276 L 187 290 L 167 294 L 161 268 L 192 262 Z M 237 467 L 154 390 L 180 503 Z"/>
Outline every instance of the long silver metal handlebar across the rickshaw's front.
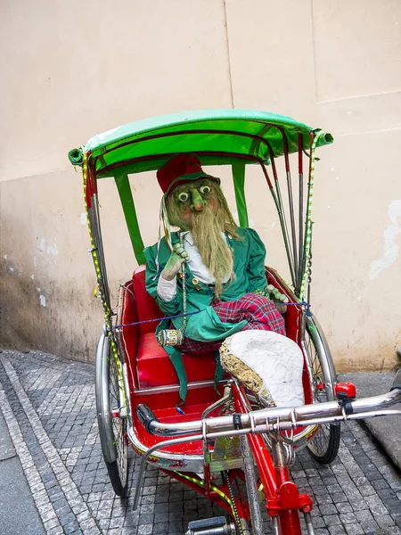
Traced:
<path fill-rule="evenodd" d="M 177 424 L 161 423 L 151 408 L 138 405 L 136 414 L 147 432 L 162 437 L 175 437 L 202 433 L 218 434 L 241 430 L 247 432 L 268 432 L 297 429 L 313 424 L 331 424 L 374 416 L 401 416 L 401 409 L 389 409 L 401 401 L 401 369 L 398 370 L 389 393 L 369 398 L 328 401 L 300 407 L 272 407 L 250 411 L 247 414 L 217 416 Z M 236 434 L 236 433 L 235 433 Z"/>

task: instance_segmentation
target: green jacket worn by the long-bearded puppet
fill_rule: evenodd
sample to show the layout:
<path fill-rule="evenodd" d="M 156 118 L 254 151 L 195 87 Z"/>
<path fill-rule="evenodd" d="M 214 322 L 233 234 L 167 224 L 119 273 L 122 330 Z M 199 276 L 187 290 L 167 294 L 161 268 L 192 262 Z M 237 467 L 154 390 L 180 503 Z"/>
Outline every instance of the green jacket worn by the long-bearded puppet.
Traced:
<path fill-rule="evenodd" d="M 239 300 L 243 295 L 255 290 L 264 290 L 266 288 L 266 273 L 265 273 L 265 245 L 260 240 L 256 231 L 251 228 L 238 228 L 237 232 L 243 240 L 237 241 L 230 235 L 226 235 L 227 242 L 233 251 L 233 271 L 235 277 L 223 285 L 223 292 L 220 299 L 223 301 Z M 178 233 L 171 235 L 172 243 L 179 241 Z M 183 288 L 181 279 L 177 279 L 176 298 L 171 301 L 160 300 L 157 293 L 157 286 L 160 273 L 168 262 L 170 251 L 167 243 L 162 240 L 160 242 L 159 253 L 158 244 L 155 243 L 151 247 L 144 250 L 146 257 L 146 290 L 151 294 L 153 299 L 157 300 L 160 309 L 167 317 L 180 315 L 183 313 Z M 156 261 L 158 259 L 158 263 Z M 186 301 L 187 312 L 198 312 L 193 316 L 188 316 L 185 336 L 192 340 L 199 342 L 216 342 L 224 340 L 227 336 L 233 333 L 238 333 L 247 324 L 246 320 L 240 323 L 224 323 L 216 312 L 210 306 L 214 298 L 213 287 L 207 284 L 202 284 L 193 275 L 188 267 L 185 266 L 185 287 L 186 287 Z M 166 319 L 160 322 L 156 333 L 160 329 L 168 329 L 170 321 L 173 322 L 176 329 L 183 324 L 183 317 L 176 317 Z M 180 382 L 180 397 L 185 399 L 186 395 L 186 374 L 184 369 L 183 358 L 181 351 L 175 347 L 165 347 L 173 365 L 176 368 L 176 373 Z"/>

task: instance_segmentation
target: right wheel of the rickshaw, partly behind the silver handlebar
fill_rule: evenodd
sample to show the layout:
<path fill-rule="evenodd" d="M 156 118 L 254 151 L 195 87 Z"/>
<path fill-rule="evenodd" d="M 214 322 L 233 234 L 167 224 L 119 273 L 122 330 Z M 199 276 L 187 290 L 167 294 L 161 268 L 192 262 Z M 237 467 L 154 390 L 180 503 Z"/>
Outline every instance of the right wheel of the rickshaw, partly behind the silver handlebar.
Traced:
<path fill-rule="evenodd" d="M 315 317 L 307 317 L 305 347 L 312 366 L 314 403 L 335 399 L 334 385 L 337 382 L 329 346 L 322 328 Z M 307 449 L 321 465 L 329 465 L 337 457 L 340 448 L 340 424 L 321 424 Z"/>

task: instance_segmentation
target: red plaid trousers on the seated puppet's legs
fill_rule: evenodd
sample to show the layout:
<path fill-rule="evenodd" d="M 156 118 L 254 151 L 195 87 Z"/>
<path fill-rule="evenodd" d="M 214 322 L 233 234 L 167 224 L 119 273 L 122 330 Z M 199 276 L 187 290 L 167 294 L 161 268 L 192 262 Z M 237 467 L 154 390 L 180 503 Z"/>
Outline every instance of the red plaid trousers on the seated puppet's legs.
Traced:
<path fill-rule="evenodd" d="M 285 336 L 284 319 L 275 308 L 274 302 L 258 293 L 247 293 L 240 300 L 217 301 L 211 306 L 224 323 L 239 323 L 246 319 L 248 324 L 243 327 L 243 331 L 274 331 Z M 218 350 L 222 342 L 197 342 L 184 338 L 184 343 L 176 348 L 184 353 L 210 353 Z"/>

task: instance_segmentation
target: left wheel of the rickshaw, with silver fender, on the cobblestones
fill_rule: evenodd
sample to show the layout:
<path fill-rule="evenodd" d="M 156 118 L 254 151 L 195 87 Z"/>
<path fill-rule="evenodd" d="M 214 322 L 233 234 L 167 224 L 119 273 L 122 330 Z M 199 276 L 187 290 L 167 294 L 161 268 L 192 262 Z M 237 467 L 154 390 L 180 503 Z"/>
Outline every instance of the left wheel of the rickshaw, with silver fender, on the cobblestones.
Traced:
<path fill-rule="evenodd" d="M 96 351 L 96 413 L 103 459 L 111 486 L 118 496 L 127 489 L 127 416 L 124 410 L 124 384 L 110 351 L 109 338 L 102 333 Z"/>

